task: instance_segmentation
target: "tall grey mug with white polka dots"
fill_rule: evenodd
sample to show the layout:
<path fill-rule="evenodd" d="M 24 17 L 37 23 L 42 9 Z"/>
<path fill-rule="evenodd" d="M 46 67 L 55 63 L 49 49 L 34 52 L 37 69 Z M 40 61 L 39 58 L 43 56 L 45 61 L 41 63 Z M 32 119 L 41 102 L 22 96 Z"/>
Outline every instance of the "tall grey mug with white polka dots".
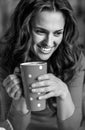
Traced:
<path fill-rule="evenodd" d="M 32 93 L 29 89 L 38 76 L 47 73 L 46 62 L 26 62 L 20 64 L 21 77 L 24 87 L 24 95 L 28 109 L 31 111 L 41 111 L 46 108 L 46 100 L 39 100 L 38 97 L 44 93 Z"/>

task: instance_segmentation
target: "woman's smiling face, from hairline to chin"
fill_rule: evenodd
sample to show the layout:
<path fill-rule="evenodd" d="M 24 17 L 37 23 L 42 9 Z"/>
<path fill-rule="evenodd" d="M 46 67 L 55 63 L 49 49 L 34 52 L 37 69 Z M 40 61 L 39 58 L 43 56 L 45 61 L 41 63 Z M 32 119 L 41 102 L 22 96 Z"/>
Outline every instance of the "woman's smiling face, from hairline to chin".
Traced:
<path fill-rule="evenodd" d="M 32 22 L 32 51 L 39 60 L 48 60 L 63 39 L 65 18 L 62 12 L 42 11 Z"/>

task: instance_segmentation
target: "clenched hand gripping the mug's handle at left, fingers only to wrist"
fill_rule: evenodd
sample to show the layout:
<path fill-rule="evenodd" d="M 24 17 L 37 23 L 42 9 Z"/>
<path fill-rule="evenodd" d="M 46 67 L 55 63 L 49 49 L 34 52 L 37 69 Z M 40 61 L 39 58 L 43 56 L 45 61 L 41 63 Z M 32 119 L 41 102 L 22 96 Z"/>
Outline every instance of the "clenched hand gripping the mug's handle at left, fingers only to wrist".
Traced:
<path fill-rule="evenodd" d="M 15 74 L 7 76 L 3 81 L 3 86 L 8 95 L 14 100 L 18 100 L 21 97 L 20 79 Z"/>

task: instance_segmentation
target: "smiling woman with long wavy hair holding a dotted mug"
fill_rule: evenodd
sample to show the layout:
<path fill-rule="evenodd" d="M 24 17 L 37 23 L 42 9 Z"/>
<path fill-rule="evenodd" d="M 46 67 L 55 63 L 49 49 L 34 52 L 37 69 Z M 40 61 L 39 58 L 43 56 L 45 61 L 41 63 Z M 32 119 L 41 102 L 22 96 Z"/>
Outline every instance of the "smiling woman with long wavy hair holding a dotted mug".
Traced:
<path fill-rule="evenodd" d="M 4 114 L 15 130 L 80 127 L 85 59 L 75 43 L 77 37 L 76 20 L 67 0 L 19 2 L 0 43 L 1 88 L 8 94 L 8 100 L 3 96 L 5 102 L 9 102 Z M 20 63 L 28 61 L 48 64 L 48 73 L 31 85 L 33 93 L 46 92 L 39 100 L 46 99 L 47 108 L 31 112 L 30 123 L 20 75 Z"/>

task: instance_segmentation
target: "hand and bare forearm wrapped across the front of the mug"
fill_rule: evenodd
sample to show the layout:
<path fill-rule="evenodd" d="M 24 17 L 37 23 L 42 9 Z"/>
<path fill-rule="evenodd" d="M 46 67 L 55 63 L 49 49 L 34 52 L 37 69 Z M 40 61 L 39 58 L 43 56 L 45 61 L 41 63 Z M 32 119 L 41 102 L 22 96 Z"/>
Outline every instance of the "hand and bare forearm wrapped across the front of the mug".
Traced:
<path fill-rule="evenodd" d="M 58 119 L 66 120 L 72 116 L 75 110 L 67 85 L 53 74 L 45 74 L 38 77 L 38 81 L 30 87 L 34 93 L 44 93 L 39 95 L 39 99 L 57 98 L 57 115 Z"/>

